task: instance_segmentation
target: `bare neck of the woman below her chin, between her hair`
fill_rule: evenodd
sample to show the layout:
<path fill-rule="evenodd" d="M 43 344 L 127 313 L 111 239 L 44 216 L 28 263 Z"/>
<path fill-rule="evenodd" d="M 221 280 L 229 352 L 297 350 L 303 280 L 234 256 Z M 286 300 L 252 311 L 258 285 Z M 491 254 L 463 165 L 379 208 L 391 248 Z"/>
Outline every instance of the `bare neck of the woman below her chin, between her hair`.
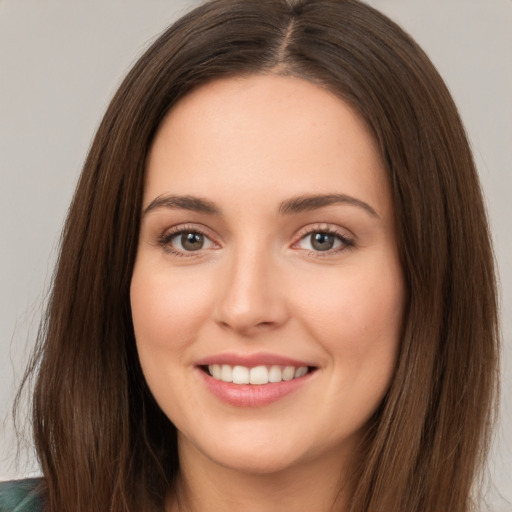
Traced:
<path fill-rule="evenodd" d="M 345 459 L 346 460 L 346 459 Z M 339 453 L 269 473 L 221 466 L 195 448 L 180 451 L 180 475 L 168 512 L 343 512 L 353 486 Z"/>

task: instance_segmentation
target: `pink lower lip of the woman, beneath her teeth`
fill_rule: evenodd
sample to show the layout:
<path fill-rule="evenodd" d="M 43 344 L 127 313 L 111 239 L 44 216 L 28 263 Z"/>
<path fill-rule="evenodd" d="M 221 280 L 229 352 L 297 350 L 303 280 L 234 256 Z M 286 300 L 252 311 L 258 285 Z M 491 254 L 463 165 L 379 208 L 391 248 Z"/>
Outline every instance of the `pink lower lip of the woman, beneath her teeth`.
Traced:
<path fill-rule="evenodd" d="M 282 380 L 281 382 L 271 382 L 268 384 L 233 384 L 217 380 L 206 372 L 198 369 L 207 388 L 217 398 L 225 403 L 236 407 L 262 407 L 277 402 L 281 398 L 297 391 L 306 384 L 311 377 L 311 373 L 299 377 L 298 379 Z"/>

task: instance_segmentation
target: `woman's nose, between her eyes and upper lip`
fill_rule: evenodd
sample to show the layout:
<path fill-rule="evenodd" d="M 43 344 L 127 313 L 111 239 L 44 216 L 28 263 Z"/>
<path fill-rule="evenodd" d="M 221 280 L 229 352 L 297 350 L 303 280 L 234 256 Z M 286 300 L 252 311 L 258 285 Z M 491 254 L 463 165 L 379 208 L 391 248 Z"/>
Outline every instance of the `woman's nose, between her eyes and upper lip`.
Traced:
<path fill-rule="evenodd" d="M 234 254 L 219 286 L 215 321 L 247 338 L 282 326 L 288 319 L 282 272 L 265 251 Z"/>

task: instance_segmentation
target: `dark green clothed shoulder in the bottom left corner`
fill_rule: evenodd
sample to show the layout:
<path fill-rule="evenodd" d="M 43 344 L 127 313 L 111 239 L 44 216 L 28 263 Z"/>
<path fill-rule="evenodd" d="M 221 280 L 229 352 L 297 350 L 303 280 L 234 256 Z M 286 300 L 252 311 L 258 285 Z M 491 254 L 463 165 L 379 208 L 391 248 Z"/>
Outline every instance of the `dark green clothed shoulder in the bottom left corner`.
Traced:
<path fill-rule="evenodd" d="M 0 512 L 40 512 L 40 478 L 0 482 Z"/>

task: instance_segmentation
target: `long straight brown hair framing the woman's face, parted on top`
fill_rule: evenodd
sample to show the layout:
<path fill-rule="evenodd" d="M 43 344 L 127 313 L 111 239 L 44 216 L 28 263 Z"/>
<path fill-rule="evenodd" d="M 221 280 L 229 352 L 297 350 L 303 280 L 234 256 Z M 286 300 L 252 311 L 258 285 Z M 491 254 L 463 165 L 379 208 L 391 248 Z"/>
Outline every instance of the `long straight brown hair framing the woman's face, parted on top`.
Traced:
<path fill-rule="evenodd" d="M 176 431 L 137 358 L 129 287 L 144 166 L 167 111 L 219 77 L 279 73 L 350 102 L 382 152 L 408 304 L 397 368 L 357 468 L 351 512 L 468 512 L 497 391 L 493 254 L 457 109 L 417 44 L 356 0 L 213 0 L 130 71 L 69 210 L 45 323 L 33 429 L 47 511 L 158 510 Z"/>

